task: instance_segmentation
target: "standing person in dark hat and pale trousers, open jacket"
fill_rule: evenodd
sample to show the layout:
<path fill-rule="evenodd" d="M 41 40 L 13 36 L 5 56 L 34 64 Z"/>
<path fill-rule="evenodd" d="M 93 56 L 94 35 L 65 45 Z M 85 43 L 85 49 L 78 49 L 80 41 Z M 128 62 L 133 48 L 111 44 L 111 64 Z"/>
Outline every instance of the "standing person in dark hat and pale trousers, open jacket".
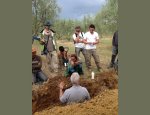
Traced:
<path fill-rule="evenodd" d="M 51 72 L 58 71 L 58 58 L 56 53 L 56 41 L 54 39 L 54 31 L 50 29 L 51 23 L 46 22 L 42 31 L 41 42 L 44 45 L 43 54 L 47 57 L 47 63 Z"/>

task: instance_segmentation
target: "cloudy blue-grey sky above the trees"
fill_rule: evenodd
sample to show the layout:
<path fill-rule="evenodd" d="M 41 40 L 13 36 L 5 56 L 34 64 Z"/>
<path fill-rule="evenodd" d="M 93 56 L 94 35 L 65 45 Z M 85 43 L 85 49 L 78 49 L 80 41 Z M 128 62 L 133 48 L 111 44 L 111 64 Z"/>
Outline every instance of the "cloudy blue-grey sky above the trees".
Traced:
<path fill-rule="evenodd" d="M 106 0 L 57 0 L 61 7 L 60 18 L 82 19 L 85 15 L 95 15 Z"/>

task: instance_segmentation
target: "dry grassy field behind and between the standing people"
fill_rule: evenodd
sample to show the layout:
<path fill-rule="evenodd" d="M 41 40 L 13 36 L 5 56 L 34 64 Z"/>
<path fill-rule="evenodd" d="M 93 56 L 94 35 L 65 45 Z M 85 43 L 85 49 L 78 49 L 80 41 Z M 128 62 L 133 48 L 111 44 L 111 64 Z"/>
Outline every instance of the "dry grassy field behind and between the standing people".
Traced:
<path fill-rule="evenodd" d="M 69 51 L 68 51 L 69 54 L 75 53 L 75 47 L 74 47 L 74 43 L 72 41 L 68 42 L 68 41 L 64 41 L 64 40 L 57 40 L 57 48 L 59 46 L 68 47 L 69 48 Z M 39 44 L 39 42 L 35 40 L 32 47 L 36 48 L 38 51 L 38 55 L 40 55 L 41 50 L 43 49 L 43 46 L 41 46 Z M 101 38 L 100 43 L 97 45 L 97 54 L 100 57 L 101 67 L 102 67 L 102 70 L 104 70 L 104 71 L 105 70 L 107 71 L 107 66 L 110 63 L 111 47 L 112 47 L 112 38 L 111 37 Z M 87 69 L 86 69 L 85 60 L 84 60 L 82 53 L 80 53 L 80 57 L 81 57 L 82 62 L 83 62 L 84 73 L 87 76 L 89 73 L 86 72 Z M 45 56 L 42 56 L 42 59 L 43 59 L 43 62 L 45 62 Z M 93 58 L 91 58 L 91 62 L 92 62 L 92 71 L 97 73 L 97 68 L 96 68 L 96 65 L 95 65 Z M 44 65 L 43 65 L 43 68 L 45 68 Z M 47 73 L 48 73 L 48 71 L 47 71 Z"/>

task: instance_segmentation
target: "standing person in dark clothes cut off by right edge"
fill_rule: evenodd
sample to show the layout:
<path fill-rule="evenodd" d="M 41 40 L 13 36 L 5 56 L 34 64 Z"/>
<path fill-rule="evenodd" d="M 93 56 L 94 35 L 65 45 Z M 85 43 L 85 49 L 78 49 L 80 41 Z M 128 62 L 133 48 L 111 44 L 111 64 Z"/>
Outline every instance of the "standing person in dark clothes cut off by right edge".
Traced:
<path fill-rule="evenodd" d="M 111 56 L 111 62 L 108 66 L 108 68 L 112 68 L 115 65 L 116 56 L 118 55 L 118 30 L 115 31 L 112 39 L 112 56 Z"/>

